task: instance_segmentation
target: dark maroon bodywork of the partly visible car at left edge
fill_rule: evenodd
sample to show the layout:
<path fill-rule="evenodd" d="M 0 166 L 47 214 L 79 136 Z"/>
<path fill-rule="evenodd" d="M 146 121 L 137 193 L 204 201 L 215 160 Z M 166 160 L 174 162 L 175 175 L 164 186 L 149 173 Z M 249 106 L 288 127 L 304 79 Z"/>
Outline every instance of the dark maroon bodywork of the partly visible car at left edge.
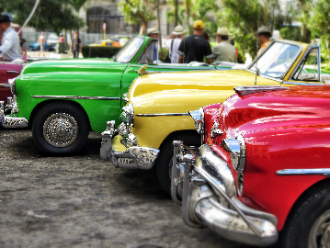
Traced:
<path fill-rule="evenodd" d="M 12 96 L 8 79 L 17 77 L 23 65 L 14 65 L 10 63 L 0 64 L 0 101 L 6 101 L 7 97 Z"/>

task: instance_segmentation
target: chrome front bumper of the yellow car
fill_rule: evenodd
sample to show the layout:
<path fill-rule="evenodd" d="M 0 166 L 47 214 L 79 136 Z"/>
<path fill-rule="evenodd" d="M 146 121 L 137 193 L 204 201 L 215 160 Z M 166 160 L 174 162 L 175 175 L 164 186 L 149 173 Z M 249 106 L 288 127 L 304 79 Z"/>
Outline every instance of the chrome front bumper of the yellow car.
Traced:
<path fill-rule="evenodd" d="M 132 146 L 126 151 L 115 151 L 111 146 L 111 140 L 116 133 L 115 121 L 107 122 L 107 129 L 102 133 L 100 157 L 111 161 L 117 168 L 125 169 L 151 169 L 158 157 L 159 150 L 149 147 Z"/>

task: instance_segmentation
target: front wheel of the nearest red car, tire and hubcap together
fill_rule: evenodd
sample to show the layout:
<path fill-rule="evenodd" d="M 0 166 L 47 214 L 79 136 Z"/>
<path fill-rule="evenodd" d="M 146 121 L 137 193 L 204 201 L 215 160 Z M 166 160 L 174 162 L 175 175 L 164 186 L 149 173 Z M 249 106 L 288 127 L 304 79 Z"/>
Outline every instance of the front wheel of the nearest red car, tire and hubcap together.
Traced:
<path fill-rule="evenodd" d="M 330 247 L 330 185 L 301 201 L 284 229 L 281 247 Z"/>

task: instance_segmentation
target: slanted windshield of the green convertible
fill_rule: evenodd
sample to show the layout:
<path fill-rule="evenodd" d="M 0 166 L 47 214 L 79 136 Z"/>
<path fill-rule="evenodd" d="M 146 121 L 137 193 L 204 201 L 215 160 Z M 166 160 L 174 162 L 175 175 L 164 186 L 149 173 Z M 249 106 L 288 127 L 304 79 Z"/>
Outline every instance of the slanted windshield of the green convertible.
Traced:
<path fill-rule="evenodd" d="M 121 63 L 130 62 L 141 49 L 143 43 L 144 38 L 142 37 L 134 37 L 130 39 L 126 45 L 115 55 L 116 61 Z"/>

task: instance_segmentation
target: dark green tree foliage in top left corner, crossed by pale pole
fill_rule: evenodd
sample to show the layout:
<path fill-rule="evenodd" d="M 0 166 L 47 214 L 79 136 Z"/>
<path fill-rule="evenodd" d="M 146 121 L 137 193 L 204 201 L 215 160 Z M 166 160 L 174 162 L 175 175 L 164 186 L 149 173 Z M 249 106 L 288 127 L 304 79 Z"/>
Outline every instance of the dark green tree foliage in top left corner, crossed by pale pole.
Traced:
<path fill-rule="evenodd" d="M 69 7 L 73 0 L 42 0 L 29 22 L 29 26 L 39 30 L 76 29 L 84 26 L 82 19 L 74 15 Z M 13 21 L 22 25 L 34 6 L 35 0 L 0 0 L 0 12 L 13 13 Z"/>

